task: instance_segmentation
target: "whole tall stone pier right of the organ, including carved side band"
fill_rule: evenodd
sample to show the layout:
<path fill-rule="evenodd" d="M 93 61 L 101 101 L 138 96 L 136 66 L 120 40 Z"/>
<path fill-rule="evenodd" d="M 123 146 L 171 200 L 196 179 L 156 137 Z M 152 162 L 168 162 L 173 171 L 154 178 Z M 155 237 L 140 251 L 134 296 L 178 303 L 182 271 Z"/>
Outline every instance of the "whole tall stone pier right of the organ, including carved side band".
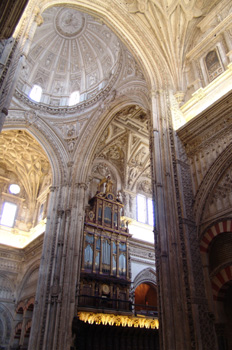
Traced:
<path fill-rule="evenodd" d="M 215 350 L 187 159 L 178 158 L 169 92 L 152 92 L 152 169 L 161 349 Z"/>

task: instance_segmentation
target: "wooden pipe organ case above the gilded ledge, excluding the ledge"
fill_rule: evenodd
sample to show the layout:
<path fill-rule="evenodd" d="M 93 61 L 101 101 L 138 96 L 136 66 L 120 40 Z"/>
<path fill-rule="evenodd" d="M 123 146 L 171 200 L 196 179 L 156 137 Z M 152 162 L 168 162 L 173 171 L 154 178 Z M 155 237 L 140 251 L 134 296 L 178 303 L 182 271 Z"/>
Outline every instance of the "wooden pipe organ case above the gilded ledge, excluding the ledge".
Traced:
<path fill-rule="evenodd" d="M 102 188 L 101 188 L 102 187 Z M 131 311 L 128 238 L 123 204 L 107 177 L 86 209 L 78 309 Z"/>

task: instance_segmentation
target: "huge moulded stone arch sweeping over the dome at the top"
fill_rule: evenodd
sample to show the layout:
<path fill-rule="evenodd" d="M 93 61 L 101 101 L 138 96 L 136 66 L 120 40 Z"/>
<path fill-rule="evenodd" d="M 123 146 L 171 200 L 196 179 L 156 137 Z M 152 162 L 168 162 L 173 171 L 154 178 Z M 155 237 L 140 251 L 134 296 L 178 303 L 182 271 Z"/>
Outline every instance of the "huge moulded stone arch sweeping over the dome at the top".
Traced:
<path fill-rule="evenodd" d="M 47 0 L 39 7 L 36 0 L 31 0 L 28 9 L 34 8 L 34 12 L 42 15 L 43 12 L 52 6 L 72 6 L 79 11 L 86 12 L 94 17 L 100 18 L 126 45 L 138 63 L 143 67 L 145 79 L 151 89 L 162 87 L 163 74 L 160 67 L 166 67 L 166 62 L 160 62 L 160 48 L 155 42 L 152 45 L 146 45 L 148 41 L 147 26 L 144 28 L 136 25 L 136 18 L 129 15 L 117 2 L 102 1 L 83 1 L 80 0 Z M 156 45 L 154 49 L 154 45 Z M 152 47 L 152 52 L 151 48 Z M 156 60 L 154 60 L 156 52 Z"/>

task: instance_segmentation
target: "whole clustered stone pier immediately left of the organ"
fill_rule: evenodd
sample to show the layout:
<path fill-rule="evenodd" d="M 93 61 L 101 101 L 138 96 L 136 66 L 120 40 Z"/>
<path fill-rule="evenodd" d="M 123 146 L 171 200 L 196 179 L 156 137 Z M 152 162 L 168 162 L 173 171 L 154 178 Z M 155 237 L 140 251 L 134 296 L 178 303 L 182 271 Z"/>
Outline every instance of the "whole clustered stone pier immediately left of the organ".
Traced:
<path fill-rule="evenodd" d="M 85 184 L 51 189 L 29 350 L 69 349 L 81 265 Z"/>

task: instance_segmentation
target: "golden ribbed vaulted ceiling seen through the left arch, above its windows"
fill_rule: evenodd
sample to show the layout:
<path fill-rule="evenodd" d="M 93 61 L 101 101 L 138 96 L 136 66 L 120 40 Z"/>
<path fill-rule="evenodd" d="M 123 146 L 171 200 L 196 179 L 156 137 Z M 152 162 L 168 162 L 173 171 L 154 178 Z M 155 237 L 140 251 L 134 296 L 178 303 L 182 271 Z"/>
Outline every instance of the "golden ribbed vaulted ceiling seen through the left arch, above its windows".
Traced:
<path fill-rule="evenodd" d="M 1 190 L 8 185 L 21 187 L 20 197 L 35 203 L 42 187 L 49 186 L 51 168 L 46 153 L 28 132 L 8 130 L 0 134 Z M 3 186 L 3 187 L 2 187 Z"/>

